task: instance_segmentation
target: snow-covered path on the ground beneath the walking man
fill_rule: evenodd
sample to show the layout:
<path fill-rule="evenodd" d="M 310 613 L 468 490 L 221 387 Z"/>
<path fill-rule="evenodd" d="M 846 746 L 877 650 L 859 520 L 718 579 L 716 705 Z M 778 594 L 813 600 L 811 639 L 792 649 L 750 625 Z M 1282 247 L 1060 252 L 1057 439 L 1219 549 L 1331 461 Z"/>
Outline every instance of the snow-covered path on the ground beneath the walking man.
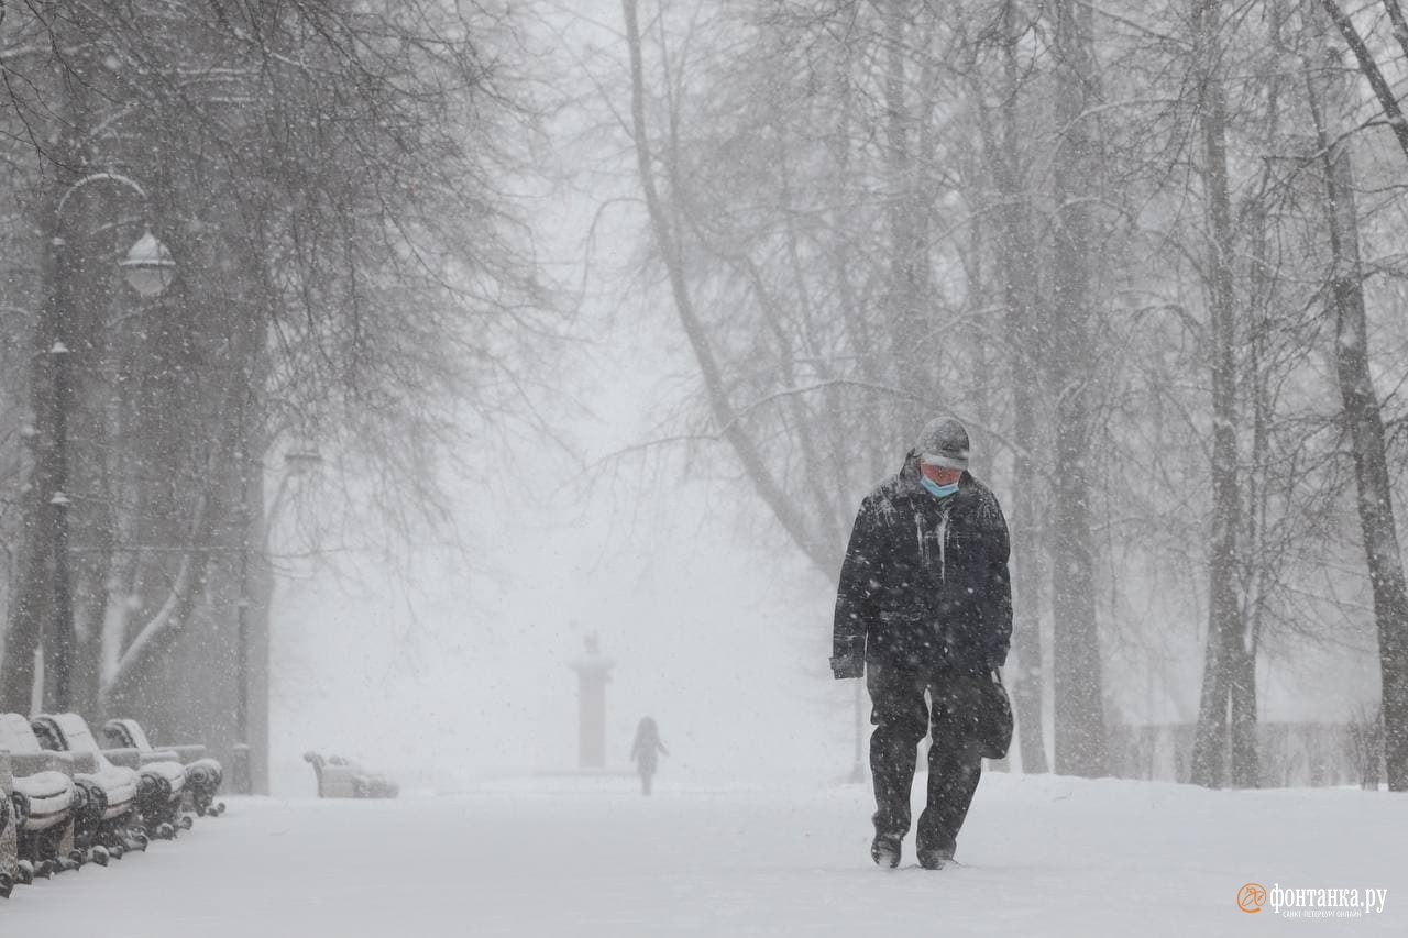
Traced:
<path fill-rule="evenodd" d="M 884 873 L 860 787 L 652 799 L 531 779 L 390 803 L 235 800 L 177 844 L 18 889 L 0 937 L 1408 935 L 1408 797 L 988 775 L 964 866 Z M 387 851 L 396 861 L 380 859 Z M 1243 883 L 1383 914 L 1238 910 Z"/>

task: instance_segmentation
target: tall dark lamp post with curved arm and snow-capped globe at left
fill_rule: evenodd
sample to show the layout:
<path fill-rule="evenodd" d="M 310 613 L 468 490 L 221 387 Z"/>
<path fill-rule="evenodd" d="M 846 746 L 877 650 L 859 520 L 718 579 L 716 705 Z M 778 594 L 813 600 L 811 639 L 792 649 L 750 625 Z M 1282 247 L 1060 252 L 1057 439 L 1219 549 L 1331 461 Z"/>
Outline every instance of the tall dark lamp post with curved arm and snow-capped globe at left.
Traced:
<path fill-rule="evenodd" d="M 69 186 L 54 208 L 54 237 L 49 242 L 52 284 L 48 303 L 49 359 L 54 373 L 54 397 L 49 401 L 52 445 L 49 446 L 49 523 L 52 525 L 54 551 L 54 630 L 45 652 L 45 683 L 54 680 L 54 704 L 58 710 L 73 707 L 73 652 L 76 637 L 73 631 L 73 593 L 69 579 L 69 499 L 65 489 L 69 484 L 69 414 L 73 413 L 73 365 L 72 324 L 73 299 L 72 280 L 75 270 L 68 251 L 66 215 L 69 199 L 80 189 L 96 183 L 114 185 L 135 193 L 142 200 L 142 215 L 146 217 L 146 192 L 134 180 L 118 173 L 92 173 Z M 124 279 L 144 299 L 159 294 L 170 283 L 176 263 L 170 251 L 151 232 L 151 228 L 131 246 L 127 256 L 118 262 Z M 52 651 L 52 656 L 48 654 Z"/>

